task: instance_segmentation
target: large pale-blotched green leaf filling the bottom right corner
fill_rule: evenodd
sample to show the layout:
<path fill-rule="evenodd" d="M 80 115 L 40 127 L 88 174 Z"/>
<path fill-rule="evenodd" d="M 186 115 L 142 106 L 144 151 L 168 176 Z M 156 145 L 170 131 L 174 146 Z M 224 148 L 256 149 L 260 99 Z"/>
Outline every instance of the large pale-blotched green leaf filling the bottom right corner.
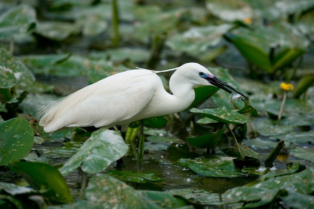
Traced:
<path fill-rule="evenodd" d="M 301 172 L 273 177 L 255 183 L 252 186 L 240 186 L 227 190 L 222 196 L 224 202 L 247 202 L 242 208 L 266 208 L 271 202 L 281 199 L 288 206 L 295 208 L 311 208 L 307 200 L 311 200 L 314 191 L 314 173 L 310 169 Z M 300 196 L 300 202 L 294 196 Z M 304 201 L 305 200 L 305 201 Z M 250 203 L 254 202 L 254 203 Z M 306 205 L 306 207 L 302 207 Z"/>

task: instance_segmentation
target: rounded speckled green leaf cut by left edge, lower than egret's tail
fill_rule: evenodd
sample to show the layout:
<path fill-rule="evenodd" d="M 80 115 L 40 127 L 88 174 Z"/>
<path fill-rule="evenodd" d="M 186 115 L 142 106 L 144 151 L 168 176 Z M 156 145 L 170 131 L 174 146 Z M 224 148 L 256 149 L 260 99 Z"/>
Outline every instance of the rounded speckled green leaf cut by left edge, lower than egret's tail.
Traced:
<path fill-rule="evenodd" d="M 34 131 L 24 118 L 0 123 L 0 165 L 23 159 L 32 149 Z"/>

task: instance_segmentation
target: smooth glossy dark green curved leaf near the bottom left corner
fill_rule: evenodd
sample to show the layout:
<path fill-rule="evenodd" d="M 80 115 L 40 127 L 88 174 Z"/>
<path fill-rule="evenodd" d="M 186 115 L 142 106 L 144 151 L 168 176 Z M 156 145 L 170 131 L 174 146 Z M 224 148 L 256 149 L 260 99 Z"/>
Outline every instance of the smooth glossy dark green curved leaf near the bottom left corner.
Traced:
<path fill-rule="evenodd" d="M 11 162 L 9 168 L 23 176 L 36 190 L 47 190 L 45 197 L 52 203 L 72 202 L 70 190 L 61 175 L 53 166 L 41 162 Z"/>

